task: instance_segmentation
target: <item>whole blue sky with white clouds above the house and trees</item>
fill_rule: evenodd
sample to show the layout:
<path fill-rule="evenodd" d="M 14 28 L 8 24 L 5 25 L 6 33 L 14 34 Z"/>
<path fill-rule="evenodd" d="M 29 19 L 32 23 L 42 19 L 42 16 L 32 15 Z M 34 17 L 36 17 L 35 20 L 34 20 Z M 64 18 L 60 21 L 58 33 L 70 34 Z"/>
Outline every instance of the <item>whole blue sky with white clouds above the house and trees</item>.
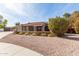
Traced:
<path fill-rule="evenodd" d="M 47 22 L 49 18 L 62 16 L 64 13 L 79 11 L 79 4 L 71 3 L 2 3 L 0 15 L 8 19 L 7 26 L 14 26 L 16 22 Z"/>

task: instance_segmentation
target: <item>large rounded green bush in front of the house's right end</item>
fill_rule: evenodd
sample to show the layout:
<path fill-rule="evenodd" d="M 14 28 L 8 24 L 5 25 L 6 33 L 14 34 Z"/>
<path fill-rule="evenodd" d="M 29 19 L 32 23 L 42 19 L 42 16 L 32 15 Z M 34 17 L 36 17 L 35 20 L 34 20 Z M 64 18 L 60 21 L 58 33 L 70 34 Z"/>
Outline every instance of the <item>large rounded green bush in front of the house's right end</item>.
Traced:
<path fill-rule="evenodd" d="M 56 17 L 50 18 L 48 22 L 48 28 L 51 33 L 54 33 L 57 36 L 62 36 L 67 31 L 69 26 L 68 20 L 64 18 Z"/>

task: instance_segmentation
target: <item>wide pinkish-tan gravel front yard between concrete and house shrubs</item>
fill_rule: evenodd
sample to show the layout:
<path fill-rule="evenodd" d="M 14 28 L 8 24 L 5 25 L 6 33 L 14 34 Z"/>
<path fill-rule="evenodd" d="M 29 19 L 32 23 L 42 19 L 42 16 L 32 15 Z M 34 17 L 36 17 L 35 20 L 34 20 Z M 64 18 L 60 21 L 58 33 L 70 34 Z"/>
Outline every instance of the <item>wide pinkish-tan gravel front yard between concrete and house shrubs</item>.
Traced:
<path fill-rule="evenodd" d="M 0 42 L 20 45 L 47 56 L 79 55 L 79 41 L 67 38 L 10 34 Z"/>

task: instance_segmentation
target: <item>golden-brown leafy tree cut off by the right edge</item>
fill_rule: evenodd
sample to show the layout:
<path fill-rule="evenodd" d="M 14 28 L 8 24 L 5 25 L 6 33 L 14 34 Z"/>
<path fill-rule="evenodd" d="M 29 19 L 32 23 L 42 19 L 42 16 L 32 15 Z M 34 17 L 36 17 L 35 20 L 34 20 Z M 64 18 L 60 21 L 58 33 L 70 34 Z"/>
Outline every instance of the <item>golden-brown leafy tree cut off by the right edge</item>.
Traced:
<path fill-rule="evenodd" d="M 74 11 L 69 17 L 69 22 L 76 33 L 79 33 L 79 11 Z"/>

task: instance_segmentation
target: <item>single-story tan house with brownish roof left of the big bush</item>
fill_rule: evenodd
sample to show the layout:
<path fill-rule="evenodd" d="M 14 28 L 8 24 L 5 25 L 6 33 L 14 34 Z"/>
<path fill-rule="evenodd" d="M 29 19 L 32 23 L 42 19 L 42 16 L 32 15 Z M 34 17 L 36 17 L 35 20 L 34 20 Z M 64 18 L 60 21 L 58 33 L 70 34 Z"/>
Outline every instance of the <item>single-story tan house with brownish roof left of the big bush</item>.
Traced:
<path fill-rule="evenodd" d="M 16 25 L 16 31 L 17 32 L 49 31 L 49 29 L 48 29 L 48 23 L 46 22 L 32 22 Z"/>

